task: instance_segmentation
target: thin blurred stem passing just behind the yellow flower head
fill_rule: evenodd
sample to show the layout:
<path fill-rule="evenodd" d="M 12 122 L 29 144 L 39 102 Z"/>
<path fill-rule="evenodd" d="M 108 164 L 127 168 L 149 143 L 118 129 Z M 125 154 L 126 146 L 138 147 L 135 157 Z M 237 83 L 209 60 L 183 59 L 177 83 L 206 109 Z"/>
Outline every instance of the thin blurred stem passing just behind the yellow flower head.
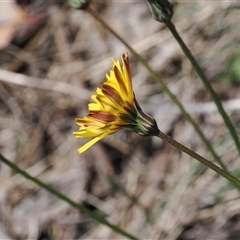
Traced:
<path fill-rule="evenodd" d="M 114 31 L 106 22 L 104 22 L 97 13 L 95 13 L 90 7 L 87 9 L 87 11 L 98 21 L 100 22 L 110 33 L 112 33 L 119 41 L 121 41 L 128 49 L 129 51 L 138 59 L 139 62 L 143 64 L 143 66 L 149 71 L 151 76 L 160 84 L 161 88 L 168 94 L 170 99 L 179 107 L 181 113 L 185 117 L 187 121 L 191 123 L 199 137 L 202 139 L 202 141 L 205 143 L 208 150 L 212 153 L 214 159 L 220 164 L 220 166 L 227 171 L 227 168 L 219 158 L 219 156 L 216 154 L 214 149 L 211 146 L 211 143 L 207 140 L 207 138 L 204 136 L 201 129 L 198 127 L 198 125 L 193 121 L 190 114 L 185 110 L 183 105 L 179 102 L 179 100 L 176 98 L 176 96 L 170 91 L 170 89 L 167 87 L 167 85 L 163 82 L 163 80 L 158 76 L 158 74 L 148 65 L 147 61 L 141 57 L 132 47 L 130 44 L 127 43 L 116 31 Z"/>

